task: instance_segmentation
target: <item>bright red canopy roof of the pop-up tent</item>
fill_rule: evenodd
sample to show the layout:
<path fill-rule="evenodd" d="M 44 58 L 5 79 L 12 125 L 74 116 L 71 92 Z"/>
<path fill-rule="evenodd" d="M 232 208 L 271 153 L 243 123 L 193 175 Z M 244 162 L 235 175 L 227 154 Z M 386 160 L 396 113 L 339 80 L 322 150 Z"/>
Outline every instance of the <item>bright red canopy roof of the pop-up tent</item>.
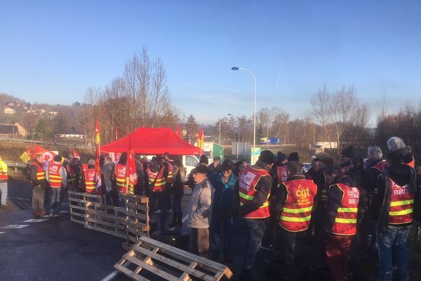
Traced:
<path fill-rule="evenodd" d="M 131 150 L 144 155 L 199 155 L 200 148 L 189 145 L 177 136 L 171 128 L 138 128 L 123 138 L 101 145 L 101 152 L 122 153 Z"/>

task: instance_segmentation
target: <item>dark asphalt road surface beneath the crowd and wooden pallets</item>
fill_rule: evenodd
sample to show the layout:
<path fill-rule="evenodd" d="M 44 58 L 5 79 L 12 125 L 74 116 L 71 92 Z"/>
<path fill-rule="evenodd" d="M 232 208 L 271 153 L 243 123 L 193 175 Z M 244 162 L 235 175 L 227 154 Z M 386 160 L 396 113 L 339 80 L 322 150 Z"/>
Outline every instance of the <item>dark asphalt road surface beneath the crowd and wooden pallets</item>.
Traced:
<path fill-rule="evenodd" d="M 10 180 L 8 195 L 11 207 L 0 209 L 0 280 L 129 280 L 113 268 L 126 252 L 121 248 L 123 239 L 83 228 L 69 221 L 68 214 L 62 214 L 60 218 L 34 217 L 30 207 L 32 188 L 27 181 Z M 189 200 L 187 192 L 182 202 L 184 218 Z M 66 198 L 62 210 L 68 211 Z M 168 214 L 167 223 L 171 222 L 171 217 Z M 159 221 L 159 214 L 152 213 L 152 219 Z M 187 231 L 186 226 L 182 229 Z M 314 244 L 308 241 L 304 246 L 302 263 L 316 261 Z M 229 267 L 236 275 L 241 269 L 241 256 L 246 247 L 246 237 L 235 235 L 234 264 Z M 411 280 L 421 280 L 418 277 L 420 251 L 418 240 L 411 248 Z M 274 274 L 266 270 L 265 262 L 270 256 L 271 252 L 263 249 L 258 253 L 253 270 L 255 280 L 281 280 L 281 266 L 274 268 Z M 376 264 L 375 256 L 366 256 L 356 264 L 353 280 L 371 280 L 377 271 Z M 329 280 L 326 270 L 320 268 L 309 270 L 305 267 L 299 273 L 303 280 Z"/>

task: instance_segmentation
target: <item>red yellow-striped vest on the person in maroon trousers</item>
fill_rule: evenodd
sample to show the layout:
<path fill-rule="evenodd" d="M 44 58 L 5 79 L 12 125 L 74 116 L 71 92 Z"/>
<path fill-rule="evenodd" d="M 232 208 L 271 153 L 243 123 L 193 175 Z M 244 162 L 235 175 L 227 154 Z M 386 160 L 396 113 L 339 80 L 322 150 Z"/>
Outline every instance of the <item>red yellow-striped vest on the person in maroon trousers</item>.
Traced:
<path fill-rule="evenodd" d="M 342 190 L 342 200 L 332 226 L 332 234 L 356 235 L 356 213 L 358 212 L 359 190 L 343 183 L 330 185 Z"/>

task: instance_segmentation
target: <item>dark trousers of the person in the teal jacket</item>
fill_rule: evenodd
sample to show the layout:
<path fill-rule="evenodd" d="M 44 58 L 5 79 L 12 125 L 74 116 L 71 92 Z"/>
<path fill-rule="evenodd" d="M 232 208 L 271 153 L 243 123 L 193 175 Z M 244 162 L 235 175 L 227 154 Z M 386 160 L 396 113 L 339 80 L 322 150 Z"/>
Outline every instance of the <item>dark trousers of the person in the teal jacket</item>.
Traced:
<path fill-rule="evenodd" d="M 213 209 L 212 221 L 210 221 L 210 246 L 213 259 L 216 260 L 218 260 L 220 250 L 221 227 L 224 231 L 224 259 L 231 259 L 232 216 L 221 209 Z"/>

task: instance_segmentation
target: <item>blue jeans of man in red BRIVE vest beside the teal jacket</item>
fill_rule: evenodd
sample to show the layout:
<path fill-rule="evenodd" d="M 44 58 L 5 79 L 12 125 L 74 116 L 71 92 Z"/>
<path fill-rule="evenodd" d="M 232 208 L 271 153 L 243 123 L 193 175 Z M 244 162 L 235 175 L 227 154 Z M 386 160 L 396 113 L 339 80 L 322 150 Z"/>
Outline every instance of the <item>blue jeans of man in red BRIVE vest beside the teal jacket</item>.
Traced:
<path fill-rule="evenodd" d="M 265 233 L 267 220 L 241 218 L 239 223 L 241 228 L 247 233 L 247 249 L 244 255 L 242 270 L 252 270 L 256 254 L 258 254 L 260 246 L 262 246 L 262 237 Z"/>

